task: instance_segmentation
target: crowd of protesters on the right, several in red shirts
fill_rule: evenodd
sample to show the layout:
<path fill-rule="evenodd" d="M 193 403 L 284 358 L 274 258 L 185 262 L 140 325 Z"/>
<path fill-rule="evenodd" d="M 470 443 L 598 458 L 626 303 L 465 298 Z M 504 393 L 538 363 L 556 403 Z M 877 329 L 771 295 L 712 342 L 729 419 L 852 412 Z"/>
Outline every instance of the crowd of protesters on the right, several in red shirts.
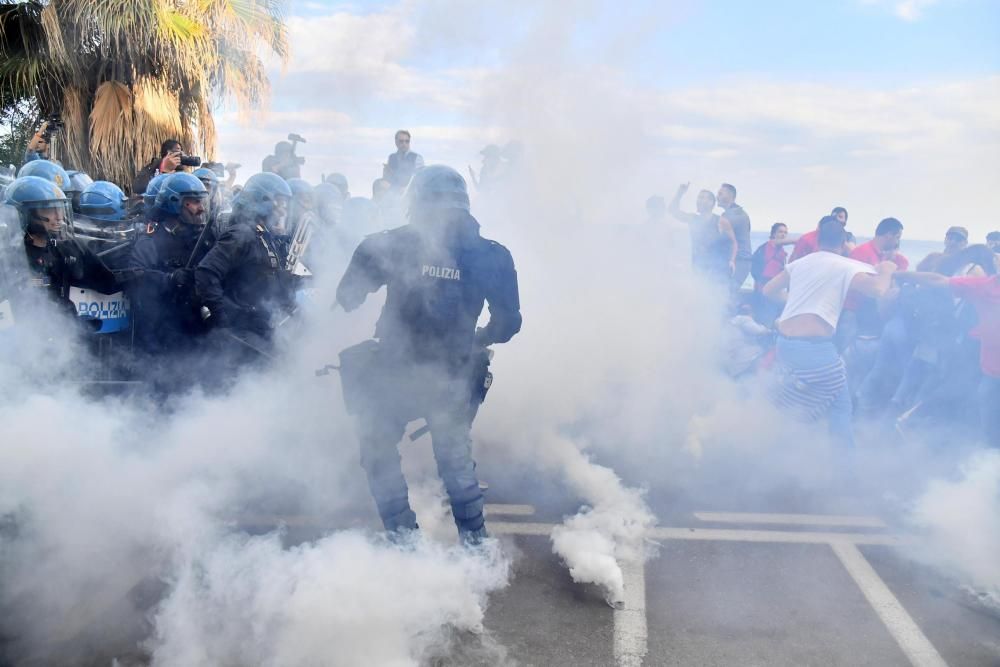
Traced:
<path fill-rule="evenodd" d="M 774 223 L 751 249 L 732 185 L 700 191 L 694 212 L 681 209 L 687 189 L 669 205 L 651 198 L 647 211 L 686 223 L 693 267 L 729 290 L 730 374 L 770 372 L 779 406 L 826 420 L 848 446 L 861 427 L 1000 447 L 1000 231 L 970 244 L 967 229 L 950 227 L 941 251 L 911 270 L 902 222 L 879 221 L 859 244 L 838 206 L 797 239 Z"/>

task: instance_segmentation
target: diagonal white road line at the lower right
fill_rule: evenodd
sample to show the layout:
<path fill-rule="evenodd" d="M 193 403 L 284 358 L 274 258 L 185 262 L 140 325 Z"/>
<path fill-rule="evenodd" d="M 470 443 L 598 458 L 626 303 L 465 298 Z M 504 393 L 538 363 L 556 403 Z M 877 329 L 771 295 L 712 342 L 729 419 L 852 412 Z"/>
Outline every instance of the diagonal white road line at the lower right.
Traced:
<path fill-rule="evenodd" d="M 840 541 L 830 545 L 848 574 L 864 593 L 865 599 L 882 619 L 914 667 L 948 667 L 927 636 L 892 594 L 875 568 L 854 544 Z"/>

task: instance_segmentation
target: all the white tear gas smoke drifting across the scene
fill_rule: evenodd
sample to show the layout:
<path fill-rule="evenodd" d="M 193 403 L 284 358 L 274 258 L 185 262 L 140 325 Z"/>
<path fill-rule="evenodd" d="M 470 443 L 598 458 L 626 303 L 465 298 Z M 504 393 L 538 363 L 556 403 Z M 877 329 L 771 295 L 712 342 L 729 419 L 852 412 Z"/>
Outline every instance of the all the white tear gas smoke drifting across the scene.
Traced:
<path fill-rule="evenodd" d="M 513 253 L 524 314 L 523 332 L 496 349 L 473 435 L 482 470 L 523 467 L 576 497 L 584 509 L 553 549 L 575 580 L 617 601 L 620 563 L 648 555 L 647 497 L 669 489 L 744 507 L 748 490 L 764 502 L 782 485 L 816 489 L 830 466 L 816 427 L 788 423 L 758 385 L 721 372 L 726 295 L 691 275 L 687 230 L 634 224 L 649 194 L 636 175 L 659 164 L 663 119 L 610 68 L 560 57 L 575 20 L 550 6 L 511 66 L 469 93 L 476 120 L 525 146 L 506 189 L 473 204 L 483 235 Z M 662 188 L 684 172 L 659 175 Z M 161 665 L 402 665 L 447 642 L 446 626 L 480 629 L 509 575 L 502 555 L 433 540 L 400 550 L 361 532 L 376 518 L 357 439 L 339 383 L 312 372 L 371 335 L 380 299 L 328 313 L 338 278 L 331 269 L 318 286 L 279 364 L 168 412 L 52 382 L 79 358 L 63 339 L 0 350 L 0 618 L 15 661 L 80 664 L 138 644 Z M 425 446 L 401 445 L 404 459 Z M 933 469 L 920 454 L 908 457 L 909 482 Z M 863 474 L 896 484 L 898 458 L 863 455 Z M 963 545 L 935 562 L 996 586 L 996 458 L 966 470 L 932 484 L 912 522 L 932 544 Z M 453 536 L 440 485 L 411 492 L 427 532 Z M 259 515 L 312 517 L 323 535 L 249 534 Z"/>

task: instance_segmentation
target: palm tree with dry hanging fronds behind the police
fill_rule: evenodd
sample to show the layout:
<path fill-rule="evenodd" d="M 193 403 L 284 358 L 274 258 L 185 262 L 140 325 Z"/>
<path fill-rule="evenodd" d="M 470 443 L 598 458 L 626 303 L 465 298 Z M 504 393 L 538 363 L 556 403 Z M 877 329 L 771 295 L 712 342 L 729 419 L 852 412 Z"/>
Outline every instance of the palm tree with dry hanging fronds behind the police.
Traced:
<path fill-rule="evenodd" d="M 268 93 L 284 0 L 0 0 L 0 105 L 59 114 L 57 157 L 131 184 L 160 142 L 215 154 L 212 109 Z"/>

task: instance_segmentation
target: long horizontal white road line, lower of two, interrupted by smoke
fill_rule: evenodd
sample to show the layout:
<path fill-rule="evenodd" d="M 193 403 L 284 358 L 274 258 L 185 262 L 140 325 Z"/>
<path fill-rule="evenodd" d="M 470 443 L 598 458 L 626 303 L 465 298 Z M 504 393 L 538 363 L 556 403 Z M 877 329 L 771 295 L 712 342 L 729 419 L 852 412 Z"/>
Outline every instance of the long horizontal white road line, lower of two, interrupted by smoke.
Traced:
<path fill-rule="evenodd" d="M 504 535 L 548 535 L 555 527 L 548 523 L 491 521 L 489 529 Z M 736 530 L 723 528 L 657 527 L 647 533 L 651 539 L 714 540 L 717 542 L 774 542 L 780 544 L 880 544 L 897 546 L 905 540 L 893 535 L 867 533 L 820 533 L 792 530 Z"/>

